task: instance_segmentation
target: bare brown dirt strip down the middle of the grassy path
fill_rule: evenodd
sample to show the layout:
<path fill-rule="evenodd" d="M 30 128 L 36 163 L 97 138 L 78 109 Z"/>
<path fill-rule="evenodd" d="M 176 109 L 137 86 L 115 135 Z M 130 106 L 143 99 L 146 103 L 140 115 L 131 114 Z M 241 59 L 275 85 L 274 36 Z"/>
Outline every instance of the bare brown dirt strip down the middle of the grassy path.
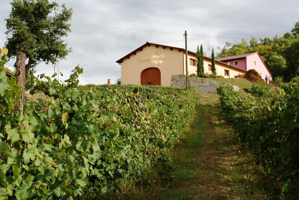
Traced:
<path fill-rule="evenodd" d="M 240 196 L 230 179 L 231 171 L 236 167 L 238 150 L 228 139 L 232 130 L 223 122 L 217 121 L 217 113 L 211 105 L 200 106 L 206 129 L 203 134 L 202 151 L 194 154 L 193 162 L 199 165 L 199 177 L 196 184 L 196 199 L 231 199 Z M 216 115 L 216 116 L 215 116 Z"/>

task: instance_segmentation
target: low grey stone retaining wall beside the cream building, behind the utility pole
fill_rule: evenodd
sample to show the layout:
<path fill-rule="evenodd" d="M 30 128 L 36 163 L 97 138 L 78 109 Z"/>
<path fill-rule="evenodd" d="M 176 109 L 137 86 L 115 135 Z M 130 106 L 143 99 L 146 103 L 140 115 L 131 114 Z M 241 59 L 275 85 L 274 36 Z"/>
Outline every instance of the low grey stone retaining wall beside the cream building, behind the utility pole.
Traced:
<path fill-rule="evenodd" d="M 219 87 L 218 81 L 211 81 L 208 79 L 202 79 L 197 77 L 189 77 L 192 86 L 203 93 L 217 93 L 216 88 Z M 176 88 L 186 88 L 186 76 L 184 74 L 171 76 L 170 85 L 174 85 Z"/>

